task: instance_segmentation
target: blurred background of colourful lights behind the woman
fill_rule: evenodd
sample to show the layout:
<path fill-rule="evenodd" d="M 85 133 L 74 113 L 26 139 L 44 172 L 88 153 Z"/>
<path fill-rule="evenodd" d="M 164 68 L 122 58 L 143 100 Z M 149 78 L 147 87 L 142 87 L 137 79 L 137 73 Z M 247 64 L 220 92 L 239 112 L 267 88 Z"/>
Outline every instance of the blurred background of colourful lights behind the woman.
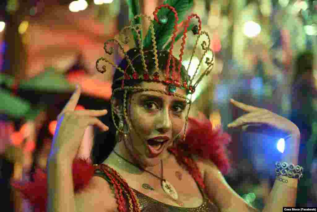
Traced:
<path fill-rule="evenodd" d="M 153 18 L 162 3 L 140 0 L 142 13 Z M 190 115 L 203 112 L 214 127 L 228 131 L 226 125 L 243 115 L 229 104 L 234 98 L 289 118 L 301 130 L 304 178 L 297 205 L 317 206 L 317 1 L 194 0 L 190 12 L 201 17 L 215 56 L 213 73 L 193 95 Z M 95 62 L 105 56 L 104 42 L 127 24 L 125 0 L 2 1 L 0 190 L 8 211 L 33 210 L 9 183 L 31 181 L 35 169 L 45 169 L 56 117 L 75 84 L 83 88 L 76 109 L 110 110 L 113 69 L 100 74 Z M 192 33 L 188 37 L 186 48 L 191 50 L 196 40 Z M 180 42 L 176 55 L 179 48 Z M 112 59 L 120 61 L 120 56 L 116 51 Z M 185 67 L 189 56 L 184 55 Z M 190 75 L 199 59 L 193 58 Z M 101 117 L 107 125 L 110 114 Z M 284 149 L 282 135 L 228 132 L 233 169 L 225 177 L 247 202 L 262 209 L 275 179 L 274 163 Z M 111 150 L 114 134 L 87 129 L 86 143 L 100 143 L 93 149 L 95 163 L 102 162 L 99 152 Z"/>

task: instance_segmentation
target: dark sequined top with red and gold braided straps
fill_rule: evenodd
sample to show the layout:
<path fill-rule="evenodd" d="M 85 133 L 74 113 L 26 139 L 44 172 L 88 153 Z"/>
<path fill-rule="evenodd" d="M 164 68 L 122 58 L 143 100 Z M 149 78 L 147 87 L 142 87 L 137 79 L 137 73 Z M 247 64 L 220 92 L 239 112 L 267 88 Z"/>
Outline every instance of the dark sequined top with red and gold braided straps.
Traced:
<path fill-rule="evenodd" d="M 212 203 L 206 193 L 204 192 L 201 184 L 195 182 L 203 196 L 203 203 L 199 207 L 195 208 L 182 208 L 173 205 L 169 205 L 160 201 L 157 201 L 136 189 L 129 187 L 126 181 L 116 172 L 114 169 L 106 164 L 100 164 L 95 169 L 95 176 L 104 178 L 113 189 L 119 211 L 140 211 L 140 212 L 218 212 L 217 206 Z"/>

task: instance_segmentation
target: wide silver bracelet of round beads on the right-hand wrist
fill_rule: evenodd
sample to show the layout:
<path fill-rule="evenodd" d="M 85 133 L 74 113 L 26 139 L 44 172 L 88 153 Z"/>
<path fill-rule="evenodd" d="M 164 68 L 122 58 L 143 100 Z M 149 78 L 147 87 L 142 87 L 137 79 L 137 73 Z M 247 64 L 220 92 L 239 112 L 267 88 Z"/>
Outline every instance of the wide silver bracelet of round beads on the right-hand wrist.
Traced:
<path fill-rule="evenodd" d="M 287 162 L 275 162 L 275 174 L 276 176 L 288 176 L 290 178 L 301 179 L 303 177 L 302 172 L 304 168 L 302 166 Z"/>

